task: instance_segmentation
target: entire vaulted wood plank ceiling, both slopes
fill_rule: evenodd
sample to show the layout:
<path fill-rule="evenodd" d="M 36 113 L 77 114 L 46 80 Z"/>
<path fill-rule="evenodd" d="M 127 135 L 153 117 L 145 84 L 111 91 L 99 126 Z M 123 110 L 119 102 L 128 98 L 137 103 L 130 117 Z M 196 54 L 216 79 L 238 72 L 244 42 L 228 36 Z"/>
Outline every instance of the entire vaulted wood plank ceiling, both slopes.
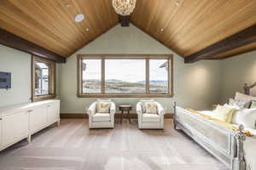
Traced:
<path fill-rule="evenodd" d="M 75 22 L 76 14 L 85 20 Z M 2 0 L 0 28 L 68 57 L 119 22 L 112 0 Z M 131 23 L 184 58 L 256 24 L 256 0 L 137 0 Z M 230 49 L 223 59 L 256 49 Z"/>

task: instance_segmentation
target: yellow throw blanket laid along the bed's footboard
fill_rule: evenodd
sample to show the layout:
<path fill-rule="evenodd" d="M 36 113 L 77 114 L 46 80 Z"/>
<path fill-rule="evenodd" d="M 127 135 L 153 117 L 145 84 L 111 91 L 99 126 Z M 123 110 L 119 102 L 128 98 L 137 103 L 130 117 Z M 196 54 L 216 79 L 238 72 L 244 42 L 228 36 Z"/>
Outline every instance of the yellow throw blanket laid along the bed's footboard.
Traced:
<path fill-rule="evenodd" d="M 217 118 L 214 118 L 212 116 L 204 115 L 204 114 L 200 113 L 199 111 L 195 111 L 192 109 L 187 109 L 187 110 L 190 111 L 191 113 L 195 114 L 196 116 L 202 116 L 212 122 L 217 122 L 218 124 L 223 125 L 224 127 L 228 127 L 233 131 L 236 131 L 236 132 L 239 131 L 239 129 L 237 127 L 235 127 L 234 125 L 232 125 L 228 122 L 223 122 L 223 121 L 220 121 Z M 244 133 L 246 136 L 253 136 L 253 134 L 250 133 L 248 130 L 243 130 L 242 133 Z"/>

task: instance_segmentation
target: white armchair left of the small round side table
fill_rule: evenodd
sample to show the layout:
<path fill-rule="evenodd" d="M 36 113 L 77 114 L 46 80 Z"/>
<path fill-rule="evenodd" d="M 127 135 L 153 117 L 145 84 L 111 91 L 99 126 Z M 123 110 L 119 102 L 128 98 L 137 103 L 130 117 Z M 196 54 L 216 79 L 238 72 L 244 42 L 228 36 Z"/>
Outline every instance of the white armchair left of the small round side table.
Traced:
<path fill-rule="evenodd" d="M 90 105 L 87 114 L 89 116 L 89 128 L 113 128 L 115 104 L 110 102 L 110 113 L 96 113 L 97 102 Z"/>

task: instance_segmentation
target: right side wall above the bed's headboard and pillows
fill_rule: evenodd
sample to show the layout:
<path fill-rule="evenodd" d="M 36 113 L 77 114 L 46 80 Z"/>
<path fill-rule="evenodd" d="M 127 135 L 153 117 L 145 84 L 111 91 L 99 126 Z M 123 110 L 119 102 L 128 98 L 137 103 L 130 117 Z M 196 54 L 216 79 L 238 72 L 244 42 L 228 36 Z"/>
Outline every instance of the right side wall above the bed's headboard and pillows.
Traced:
<path fill-rule="evenodd" d="M 243 93 L 245 83 L 250 85 L 256 82 L 256 51 L 221 62 L 223 71 L 220 102 L 225 103 L 228 99 L 234 98 L 236 91 Z"/>

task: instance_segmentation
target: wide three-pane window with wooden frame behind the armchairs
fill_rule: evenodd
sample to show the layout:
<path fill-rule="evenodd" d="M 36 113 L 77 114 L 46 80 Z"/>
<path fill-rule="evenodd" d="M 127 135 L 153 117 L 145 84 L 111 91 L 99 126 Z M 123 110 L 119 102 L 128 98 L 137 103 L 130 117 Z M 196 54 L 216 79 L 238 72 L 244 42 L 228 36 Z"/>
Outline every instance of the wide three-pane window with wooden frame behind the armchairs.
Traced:
<path fill-rule="evenodd" d="M 79 97 L 172 97 L 172 55 L 79 55 Z"/>

